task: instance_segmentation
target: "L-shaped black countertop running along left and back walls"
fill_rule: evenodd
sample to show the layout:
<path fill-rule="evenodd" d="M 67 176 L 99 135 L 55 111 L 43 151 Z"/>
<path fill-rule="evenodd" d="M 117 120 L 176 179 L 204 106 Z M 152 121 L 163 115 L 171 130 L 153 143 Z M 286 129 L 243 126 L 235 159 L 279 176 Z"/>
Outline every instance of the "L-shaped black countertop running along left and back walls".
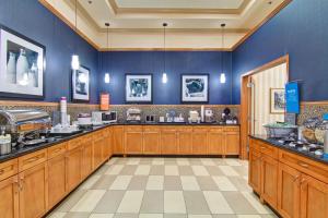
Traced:
<path fill-rule="evenodd" d="M 133 123 L 129 123 L 129 122 L 118 122 L 118 123 L 112 123 L 112 124 L 105 124 L 105 125 L 98 125 L 98 126 L 93 126 L 90 130 L 85 130 L 82 133 L 78 133 L 71 136 L 63 136 L 60 138 L 56 138 L 55 141 L 51 142 L 47 142 L 47 143 L 42 143 L 39 145 L 35 145 L 35 146 L 26 146 L 23 148 L 19 148 L 19 149 L 13 149 L 9 155 L 2 155 L 0 156 L 0 162 L 4 162 L 7 160 L 13 159 L 13 158 L 17 158 L 21 157 L 23 155 L 30 154 L 30 153 L 34 153 L 54 145 L 57 145 L 59 143 L 63 143 L 70 140 L 73 140 L 75 137 L 80 137 L 82 135 L 102 130 L 104 128 L 108 128 L 108 126 L 113 126 L 113 125 L 188 125 L 188 126 L 199 126 L 199 125 L 215 125 L 215 126 L 239 126 L 238 124 L 220 124 L 220 123 L 175 123 L 175 122 L 163 122 L 163 123 L 144 123 L 144 122 L 133 122 Z"/>

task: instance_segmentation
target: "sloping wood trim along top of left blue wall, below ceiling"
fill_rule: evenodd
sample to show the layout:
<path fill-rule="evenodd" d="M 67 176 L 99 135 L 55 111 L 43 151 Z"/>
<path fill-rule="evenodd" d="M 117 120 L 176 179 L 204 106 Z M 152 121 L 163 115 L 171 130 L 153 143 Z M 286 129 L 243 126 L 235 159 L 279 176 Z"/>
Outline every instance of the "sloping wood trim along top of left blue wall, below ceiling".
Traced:
<path fill-rule="evenodd" d="M 82 33 L 80 29 L 74 27 L 74 24 L 72 24 L 68 19 L 66 19 L 59 11 L 57 11 L 51 4 L 47 2 L 47 0 L 38 0 L 40 4 L 43 4 L 45 8 L 47 8 L 52 14 L 58 16 L 63 23 L 66 23 L 71 29 L 73 29 L 78 35 L 80 35 L 86 43 L 89 43 L 92 47 L 94 47 L 96 50 L 99 50 L 99 47 L 91 39 L 89 38 L 84 33 Z"/>

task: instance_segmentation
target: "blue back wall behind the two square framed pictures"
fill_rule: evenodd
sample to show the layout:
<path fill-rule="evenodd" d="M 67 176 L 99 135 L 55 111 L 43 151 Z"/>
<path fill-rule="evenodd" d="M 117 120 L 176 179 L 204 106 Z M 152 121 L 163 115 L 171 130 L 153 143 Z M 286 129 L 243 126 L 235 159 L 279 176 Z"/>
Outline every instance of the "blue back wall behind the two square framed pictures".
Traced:
<path fill-rule="evenodd" d="M 226 83 L 220 83 L 221 56 L 224 60 Z M 194 73 L 210 74 L 209 104 L 231 104 L 232 55 L 218 51 L 167 51 L 166 73 L 168 82 L 162 83 L 164 52 L 161 51 L 114 51 L 102 52 L 99 59 L 99 92 L 110 93 L 110 104 L 125 104 L 125 74 L 153 74 L 153 104 L 180 104 L 180 75 Z M 108 60 L 112 61 L 108 61 Z M 110 69 L 110 84 L 104 83 L 104 74 Z"/>

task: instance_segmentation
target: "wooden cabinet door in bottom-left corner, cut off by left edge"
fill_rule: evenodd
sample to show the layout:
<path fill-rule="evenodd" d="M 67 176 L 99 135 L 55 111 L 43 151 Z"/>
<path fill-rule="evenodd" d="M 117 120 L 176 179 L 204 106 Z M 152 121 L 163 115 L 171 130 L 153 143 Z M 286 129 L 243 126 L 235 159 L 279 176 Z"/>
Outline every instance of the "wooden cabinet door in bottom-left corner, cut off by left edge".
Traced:
<path fill-rule="evenodd" d="M 19 218 L 19 178 L 11 177 L 0 182 L 0 215 L 3 218 Z"/>

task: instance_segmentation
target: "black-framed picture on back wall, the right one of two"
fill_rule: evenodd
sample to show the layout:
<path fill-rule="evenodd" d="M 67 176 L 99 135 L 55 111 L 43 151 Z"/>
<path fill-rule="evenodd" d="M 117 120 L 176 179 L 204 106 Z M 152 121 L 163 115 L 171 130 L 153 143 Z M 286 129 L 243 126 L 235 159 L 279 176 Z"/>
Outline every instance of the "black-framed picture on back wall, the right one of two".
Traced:
<path fill-rule="evenodd" d="M 209 74 L 181 75 L 181 102 L 209 102 Z"/>

